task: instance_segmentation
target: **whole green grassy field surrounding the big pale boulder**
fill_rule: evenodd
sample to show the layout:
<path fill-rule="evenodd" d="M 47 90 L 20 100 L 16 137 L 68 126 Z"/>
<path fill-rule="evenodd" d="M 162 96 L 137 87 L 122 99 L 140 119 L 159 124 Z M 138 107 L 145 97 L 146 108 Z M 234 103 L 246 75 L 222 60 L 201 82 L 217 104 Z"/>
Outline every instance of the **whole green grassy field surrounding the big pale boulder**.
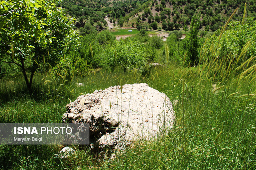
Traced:
<path fill-rule="evenodd" d="M 203 65 L 202 65 L 203 66 Z M 202 67 L 201 67 L 202 68 Z M 61 122 L 65 106 L 80 94 L 95 89 L 132 83 L 147 83 L 164 92 L 174 106 L 174 129 L 157 140 L 137 141 L 115 160 L 98 161 L 88 149 L 71 146 L 71 158 L 56 158 L 63 146 L 0 146 L 3 169 L 207 169 L 256 168 L 256 100 L 248 78 L 226 78 L 215 82 L 206 70 L 173 64 L 152 68 L 148 77 L 136 72 L 101 70 L 86 77 L 56 82 L 49 74 L 38 74 L 33 96 L 26 94 L 23 80 L 2 80 L 0 122 Z M 76 87 L 76 82 L 84 86 Z M 8 160 L 8 161 L 6 161 Z"/>

